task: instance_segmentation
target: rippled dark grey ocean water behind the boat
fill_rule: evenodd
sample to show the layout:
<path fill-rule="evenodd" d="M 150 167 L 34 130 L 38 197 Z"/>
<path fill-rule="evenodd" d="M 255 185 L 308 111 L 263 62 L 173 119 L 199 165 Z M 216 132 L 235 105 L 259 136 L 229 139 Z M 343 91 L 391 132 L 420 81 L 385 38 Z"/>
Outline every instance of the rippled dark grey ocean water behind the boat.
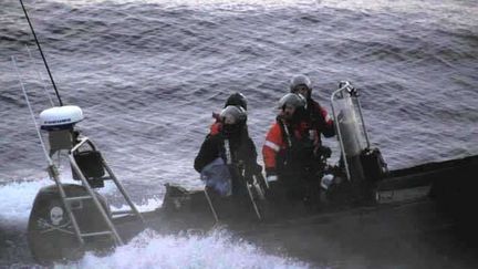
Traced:
<path fill-rule="evenodd" d="M 21 7 L 0 1 L 0 221 L 24 226 L 48 182 L 10 56 L 17 56 L 37 115 L 50 103 Z M 313 96 L 329 111 L 339 81 L 362 90 L 371 139 L 392 169 L 478 154 L 474 0 L 25 4 L 63 102 L 83 108 L 79 127 L 138 204 L 160 200 L 167 182 L 200 184 L 194 157 L 211 112 L 235 91 L 248 99 L 249 130 L 260 152 L 273 106 L 297 73 L 312 79 Z M 48 91 L 54 99 L 50 84 Z M 337 149 L 335 139 L 326 144 Z"/>

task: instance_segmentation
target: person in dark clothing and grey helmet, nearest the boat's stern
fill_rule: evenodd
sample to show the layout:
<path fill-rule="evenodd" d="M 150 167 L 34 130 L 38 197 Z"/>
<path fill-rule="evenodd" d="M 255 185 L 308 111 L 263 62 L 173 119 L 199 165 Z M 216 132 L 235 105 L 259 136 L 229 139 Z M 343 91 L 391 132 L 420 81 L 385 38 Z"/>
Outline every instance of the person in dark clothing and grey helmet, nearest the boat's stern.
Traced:
<path fill-rule="evenodd" d="M 262 167 L 257 164 L 257 152 L 247 130 L 246 110 L 237 105 L 227 105 L 219 114 L 221 124 L 217 134 L 208 134 L 204 141 L 194 167 L 208 177 L 211 164 L 222 163 L 228 167 L 231 192 L 219 192 L 222 195 L 247 194 L 246 182 L 252 182 L 252 176 L 260 174 Z M 215 169 L 215 168 L 212 168 Z M 212 189 L 214 186 L 206 185 Z M 217 190 L 217 189 L 216 189 Z"/>

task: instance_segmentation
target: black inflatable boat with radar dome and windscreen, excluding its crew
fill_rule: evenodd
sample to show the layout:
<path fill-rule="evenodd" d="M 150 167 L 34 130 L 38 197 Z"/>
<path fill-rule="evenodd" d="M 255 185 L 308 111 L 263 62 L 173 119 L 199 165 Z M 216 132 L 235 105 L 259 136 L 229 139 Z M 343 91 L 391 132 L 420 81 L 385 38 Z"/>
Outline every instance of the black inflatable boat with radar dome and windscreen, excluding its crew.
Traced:
<path fill-rule="evenodd" d="M 43 111 L 40 120 L 41 128 L 49 135 L 49 155 L 66 151 L 79 184 L 62 183 L 50 163 L 50 176 L 55 184 L 39 192 L 28 225 L 33 257 L 49 263 L 77 259 L 89 250 L 107 252 L 145 228 L 175 234 L 227 227 L 268 246 L 272 240 L 270 232 L 276 231 L 281 234 L 280 244 L 300 255 L 303 251 L 298 238 L 306 245 L 320 245 L 310 232 L 325 236 L 322 231 L 336 226 L 355 229 L 353 224 L 364 218 L 371 221 L 367 227 L 376 228 L 380 223 L 378 230 L 367 231 L 373 232 L 371 238 L 384 230 L 401 235 L 409 226 L 403 219 L 423 230 L 436 230 L 437 225 L 472 230 L 476 221 L 468 207 L 477 205 L 474 193 L 478 156 L 388 170 L 380 149 L 368 141 L 358 90 L 341 82 L 331 103 L 342 162 L 332 167 L 324 159 L 321 165 L 329 168 L 315 184 L 306 186 L 310 195 L 305 198 L 291 200 L 281 188 L 274 188 L 260 176 L 243 183 L 247 189 L 243 195 L 227 197 L 209 188 L 187 190 L 167 184 L 162 207 L 146 213 L 137 210 L 97 146 L 75 131 L 75 123 L 83 120 L 80 107 Z M 112 210 L 106 198 L 95 192 L 105 180 L 113 180 L 129 209 Z M 441 214 L 446 217 L 438 217 Z M 343 232 L 341 236 L 350 230 Z"/>

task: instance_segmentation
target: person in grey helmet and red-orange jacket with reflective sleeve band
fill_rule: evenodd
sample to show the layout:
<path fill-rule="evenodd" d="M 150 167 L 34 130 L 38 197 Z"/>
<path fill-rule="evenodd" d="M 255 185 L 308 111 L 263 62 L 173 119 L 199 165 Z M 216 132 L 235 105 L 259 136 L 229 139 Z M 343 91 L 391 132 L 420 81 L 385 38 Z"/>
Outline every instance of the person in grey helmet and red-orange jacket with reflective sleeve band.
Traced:
<path fill-rule="evenodd" d="M 303 200 L 313 187 L 316 166 L 313 141 L 304 122 L 305 97 L 288 93 L 280 99 L 278 108 L 262 147 L 267 180 L 274 196 L 284 193 L 290 200 Z"/>

